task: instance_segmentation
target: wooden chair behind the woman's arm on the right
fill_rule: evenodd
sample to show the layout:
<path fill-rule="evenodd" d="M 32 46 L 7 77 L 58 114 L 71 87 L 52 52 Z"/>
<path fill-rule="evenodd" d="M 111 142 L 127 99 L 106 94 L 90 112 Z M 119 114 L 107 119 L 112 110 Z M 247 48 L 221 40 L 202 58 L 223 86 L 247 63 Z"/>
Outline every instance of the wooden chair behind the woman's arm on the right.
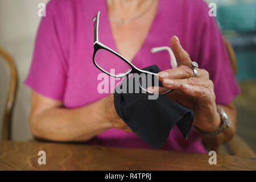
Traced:
<path fill-rule="evenodd" d="M 225 42 L 226 49 L 229 53 L 230 63 L 232 64 L 234 75 L 237 74 L 237 60 L 234 53 L 233 47 L 228 42 L 228 39 L 223 38 Z M 237 134 L 229 142 L 220 147 L 220 154 L 247 156 L 255 158 L 255 153 Z"/>

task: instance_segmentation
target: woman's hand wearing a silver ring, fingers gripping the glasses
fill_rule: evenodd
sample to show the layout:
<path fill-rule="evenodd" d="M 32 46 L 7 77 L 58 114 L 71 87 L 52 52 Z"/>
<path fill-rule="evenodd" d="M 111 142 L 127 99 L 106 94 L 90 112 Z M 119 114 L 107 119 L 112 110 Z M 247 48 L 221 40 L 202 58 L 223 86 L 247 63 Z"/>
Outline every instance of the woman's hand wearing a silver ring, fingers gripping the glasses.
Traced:
<path fill-rule="evenodd" d="M 209 73 L 205 69 L 196 68 L 198 73 L 193 77 L 193 70 L 189 68 L 192 61 L 176 36 L 171 39 L 171 48 L 179 67 L 159 72 L 159 80 L 163 86 L 174 90 L 167 96 L 194 111 L 193 125 L 203 131 L 215 131 L 221 118 L 217 112 Z"/>

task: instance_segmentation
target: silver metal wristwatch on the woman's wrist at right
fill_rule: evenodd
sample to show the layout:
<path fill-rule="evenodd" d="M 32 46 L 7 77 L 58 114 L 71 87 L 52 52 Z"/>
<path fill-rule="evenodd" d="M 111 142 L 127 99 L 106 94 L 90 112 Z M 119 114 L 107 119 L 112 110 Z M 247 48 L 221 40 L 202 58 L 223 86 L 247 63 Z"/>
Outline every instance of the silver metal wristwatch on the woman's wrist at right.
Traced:
<path fill-rule="evenodd" d="M 220 134 L 221 132 L 223 132 L 225 129 L 229 128 L 230 127 L 230 121 L 229 121 L 229 118 L 228 118 L 228 115 L 225 113 L 224 109 L 222 109 L 222 107 L 220 106 L 217 106 L 217 111 L 218 113 L 220 114 L 221 116 L 221 123 L 220 125 L 218 126 L 217 130 L 213 131 L 213 132 L 205 132 L 205 131 L 202 131 L 200 130 L 198 127 L 196 126 L 193 126 L 194 130 L 205 136 L 205 137 L 211 137 L 213 135 L 217 135 L 217 134 Z"/>

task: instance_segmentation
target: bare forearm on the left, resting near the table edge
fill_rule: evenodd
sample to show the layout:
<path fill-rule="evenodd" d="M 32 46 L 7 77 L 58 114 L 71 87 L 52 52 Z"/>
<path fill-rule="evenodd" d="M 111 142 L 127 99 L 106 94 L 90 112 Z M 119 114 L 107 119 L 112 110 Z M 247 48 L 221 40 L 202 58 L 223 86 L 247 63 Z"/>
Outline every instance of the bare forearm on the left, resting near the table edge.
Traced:
<path fill-rule="evenodd" d="M 53 107 L 31 112 L 31 133 L 36 138 L 60 142 L 89 140 L 113 127 L 105 114 L 107 99 L 77 109 Z"/>

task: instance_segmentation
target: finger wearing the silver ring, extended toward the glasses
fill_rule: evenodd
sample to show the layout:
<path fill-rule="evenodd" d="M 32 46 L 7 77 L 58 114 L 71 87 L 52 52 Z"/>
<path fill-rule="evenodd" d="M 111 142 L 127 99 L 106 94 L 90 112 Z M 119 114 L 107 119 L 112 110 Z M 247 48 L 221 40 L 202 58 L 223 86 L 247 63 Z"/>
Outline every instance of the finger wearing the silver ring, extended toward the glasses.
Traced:
<path fill-rule="evenodd" d="M 209 73 L 205 71 L 205 69 L 199 69 L 195 68 L 197 70 L 197 78 L 199 77 L 205 77 L 209 78 Z M 207 72 L 207 73 L 206 73 Z M 166 69 L 165 71 L 158 73 L 158 78 L 160 81 L 163 81 L 163 79 L 169 78 L 169 79 L 184 79 L 184 78 L 190 78 L 193 77 L 193 69 L 186 66 L 181 65 L 180 67 L 174 68 L 174 69 Z"/>

